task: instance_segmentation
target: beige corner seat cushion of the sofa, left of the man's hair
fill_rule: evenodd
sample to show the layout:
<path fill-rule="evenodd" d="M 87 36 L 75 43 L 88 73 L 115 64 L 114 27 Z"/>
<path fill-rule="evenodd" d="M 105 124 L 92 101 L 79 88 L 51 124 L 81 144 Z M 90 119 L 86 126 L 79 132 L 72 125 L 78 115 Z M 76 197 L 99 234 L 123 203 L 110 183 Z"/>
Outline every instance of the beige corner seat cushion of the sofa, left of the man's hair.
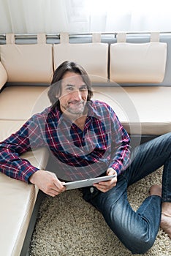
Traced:
<path fill-rule="evenodd" d="M 50 105 L 46 86 L 9 86 L 0 94 L 0 120 L 26 120 Z"/>

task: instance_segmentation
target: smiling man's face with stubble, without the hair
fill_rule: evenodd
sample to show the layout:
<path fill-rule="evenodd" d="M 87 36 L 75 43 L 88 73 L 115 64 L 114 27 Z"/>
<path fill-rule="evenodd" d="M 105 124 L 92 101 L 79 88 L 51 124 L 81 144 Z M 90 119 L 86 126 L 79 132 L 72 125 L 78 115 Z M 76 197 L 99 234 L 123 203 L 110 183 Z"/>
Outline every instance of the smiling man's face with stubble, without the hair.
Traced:
<path fill-rule="evenodd" d="M 88 89 L 81 75 L 66 72 L 61 81 L 60 108 L 63 113 L 81 116 L 88 97 Z"/>

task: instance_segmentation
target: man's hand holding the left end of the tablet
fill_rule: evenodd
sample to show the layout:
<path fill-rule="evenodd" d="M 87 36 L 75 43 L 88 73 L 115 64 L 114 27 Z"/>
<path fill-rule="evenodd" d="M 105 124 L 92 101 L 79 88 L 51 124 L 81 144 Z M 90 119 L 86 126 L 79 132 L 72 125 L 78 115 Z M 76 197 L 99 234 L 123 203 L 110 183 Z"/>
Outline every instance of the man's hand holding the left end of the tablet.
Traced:
<path fill-rule="evenodd" d="M 64 182 L 59 181 L 55 173 L 51 173 L 47 170 L 37 170 L 37 172 L 29 178 L 29 181 L 37 185 L 42 192 L 52 197 L 66 190 L 66 187 L 63 185 Z"/>

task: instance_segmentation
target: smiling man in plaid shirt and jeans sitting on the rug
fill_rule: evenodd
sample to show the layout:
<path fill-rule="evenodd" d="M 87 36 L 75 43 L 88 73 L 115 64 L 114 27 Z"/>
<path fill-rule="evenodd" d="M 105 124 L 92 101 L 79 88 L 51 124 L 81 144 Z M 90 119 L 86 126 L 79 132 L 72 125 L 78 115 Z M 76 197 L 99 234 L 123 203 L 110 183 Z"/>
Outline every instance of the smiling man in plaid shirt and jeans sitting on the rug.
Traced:
<path fill-rule="evenodd" d="M 66 190 L 64 181 L 117 174 L 110 181 L 84 188 L 83 198 L 102 212 L 133 254 L 151 248 L 160 222 L 171 238 L 171 133 L 131 152 L 129 135 L 115 112 L 106 103 L 91 100 L 88 75 L 73 62 L 65 61 L 56 69 L 48 97 L 52 106 L 1 142 L 1 172 L 36 184 L 53 197 Z M 39 146 L 47 146 L 53 153 L 59 167 L 57 176 L 20 158 Z M 162 189 L 151 187 L 150 196 L 134 212 L 127 200 L 127 187 L 162 165 Z"/>

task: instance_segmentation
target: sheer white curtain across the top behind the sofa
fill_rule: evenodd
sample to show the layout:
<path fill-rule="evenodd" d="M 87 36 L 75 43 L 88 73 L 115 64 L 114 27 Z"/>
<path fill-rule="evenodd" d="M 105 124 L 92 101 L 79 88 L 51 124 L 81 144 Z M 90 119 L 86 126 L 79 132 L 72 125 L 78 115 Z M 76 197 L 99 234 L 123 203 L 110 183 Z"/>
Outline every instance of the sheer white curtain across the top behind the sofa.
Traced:
<path fill-rule="evenodd" d="M 0 0 L 0 34 L 171 31 L 170 0 Z"/>

